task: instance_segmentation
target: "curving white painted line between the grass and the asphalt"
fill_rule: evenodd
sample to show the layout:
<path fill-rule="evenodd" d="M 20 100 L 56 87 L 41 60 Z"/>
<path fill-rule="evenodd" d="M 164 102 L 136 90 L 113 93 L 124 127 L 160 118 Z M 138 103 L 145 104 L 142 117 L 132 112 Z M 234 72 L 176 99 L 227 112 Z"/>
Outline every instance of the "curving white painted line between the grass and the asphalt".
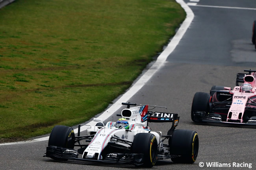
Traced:
<path fill-rule="evenodd" d="M 142 75 L 141 78 L 126 93 L 122 95 L 122 97 L 120 97 L 113 105 L 111 105 L 105 112 L 103 112 L 98 117 L 99 119 L 103 119 L 103 121 L 106 120 L 111 115 L 109 113 L 114 113 L 116 110 L 121 108 L 122 102 L 128 101 L 133 95 L 135 95 L 135 93 L 137 93 L 137 91 L 139 91 L 144 86 L 144 84 L 146 84 L 146 82 L 154 75 L 154 73 L 156 73 L 156 71 L 160 69 L 161 66 L 163 66 L 163 63 L 165 62 L 167 57 L 173 52 L 173 50 L 180 42 L 181 38 L 187 31 L 187 28 L 189 27 L 194 18 L 194 13 L 183 0 L 176 0 L 176 2 L 178 2 L 181 5 L 181 7 L 185 10 L 187 16 L 182 25 L 180 26 L 180 28 L 178 29 L 178 31 L 176 32 L 176 34 L 174 35 L 174 37 L 172 38 L 171 42 L 169 42 L 165 50 L 163 50 L 163 52 L 158 56 L 156 62 L 144 73 L 144 75 Z M 93 126 L 95 125 L 95 122 L 91 121 L 87 124 Z M 86 126 L 81 126 L 80 131 L 82 132 L 84 130 L 86 130 Z M 74 132 L 77 133 L 78 128 L 74 129 Z M 28 141 L 1 143 L 0 146 L 46 141 L 48 139 L 49 136 L 38 139 L 32 139 Z"/>

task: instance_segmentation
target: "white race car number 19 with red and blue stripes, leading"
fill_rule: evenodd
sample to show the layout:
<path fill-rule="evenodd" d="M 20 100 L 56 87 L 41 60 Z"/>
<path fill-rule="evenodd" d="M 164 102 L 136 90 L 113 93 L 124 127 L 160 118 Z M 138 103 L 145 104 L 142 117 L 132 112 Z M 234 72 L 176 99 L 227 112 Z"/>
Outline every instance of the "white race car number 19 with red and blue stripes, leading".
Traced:
<path fill-rule="evenodd" d="M 127 105 L 127 108 L 122 110 L 121 115 L 117 115 L 122 117 L 117 122 L 110 121 L 105 125 L 101 119 L 94 118 L 98 123 L 95 126 L 80 124 L 77 136 L 70 127 L 55 126 L 50 133 L 45 157 L 55 160 L 128 163 L 142 167 L 152 167 L 156 161 L 163 159 L 171 159 L 174 163 L 195 162 L 198 134 L 193 130 L 175 130 L 180 118 L 178 114 L 153 113 L 148 111 L 151 105 L 122 104 Z M 151 130 L 148 122 L 171 122 L 171 128 L 167 135 L 162 135 L 161 132 Z M 86 135 L 80 135 L 81 126 L 88 126 Z M 165 139 L 168 139 L 166 144 Z"/>

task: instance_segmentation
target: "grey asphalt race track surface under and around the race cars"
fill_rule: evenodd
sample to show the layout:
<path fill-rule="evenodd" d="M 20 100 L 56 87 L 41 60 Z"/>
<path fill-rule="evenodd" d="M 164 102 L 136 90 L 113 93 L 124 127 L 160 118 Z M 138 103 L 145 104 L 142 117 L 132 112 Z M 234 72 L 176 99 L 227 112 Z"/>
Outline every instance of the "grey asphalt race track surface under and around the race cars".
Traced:
<path fill-rule="evenodd" d="M 193 22 L 161 69 L 129 101 L 167 106 L 167 110 L 160 108 L 158 111 L 178 113 L 178 129 L 197 131 L 199 153 L 194 164 L 174 164 L 171 160 L 165 160 L 159 161 L 151 169 L 256 169 L 254 128 L 195 124 L 190 116 L 192 99 L 197 91 L 209 92 L 213 85 L 233 88 L 236 73 L 256 69 L 256 51 L 251 42 L 252 22 L 256 20 L 255 0 L 185 2 L 193 3 L 188 4 L 195 15 Z M 120 113 L 120 109 L 113 115 L 117 113 Z M 109 118 L 112 119 L 117 118 Z M 149 126 L 166 134 L 171 125 L 150 123 Z M 47 144 L 48 141 L 41 141 L 0 146 L 0 169 L 138 169 L 131 165 L 54 161 L 43 157 Z M 202 163 L 204 167 L 200 167 Z M 228 164 L 230 167 L 207 167 L 209 163 Z M 252 164 L 251 168 L 243 167 L 248 164 Z"/>

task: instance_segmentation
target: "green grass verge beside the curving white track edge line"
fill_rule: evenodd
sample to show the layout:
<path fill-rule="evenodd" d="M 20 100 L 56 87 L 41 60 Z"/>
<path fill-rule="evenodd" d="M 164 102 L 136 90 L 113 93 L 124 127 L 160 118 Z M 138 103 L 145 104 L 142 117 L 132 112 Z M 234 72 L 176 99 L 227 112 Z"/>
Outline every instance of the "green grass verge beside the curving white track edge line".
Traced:
<path fill-rule="evenodd" d="M 174 0 L 16 0 L 0 9 L 1 141 L 104 111 L 185 17 Z"/>

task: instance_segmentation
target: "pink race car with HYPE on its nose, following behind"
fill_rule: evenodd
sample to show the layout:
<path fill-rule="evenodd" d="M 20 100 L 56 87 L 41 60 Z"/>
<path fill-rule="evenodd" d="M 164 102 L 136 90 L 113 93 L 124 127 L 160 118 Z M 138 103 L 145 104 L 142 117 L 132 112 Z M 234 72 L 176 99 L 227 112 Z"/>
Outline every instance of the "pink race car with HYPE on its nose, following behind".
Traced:
<path fill-rule="evenodd" d="M 209 93 L 197 92 L 191 107 L 194 122 L 256 125 L 256 70 L 237 73 L 236 86 L 213 86 Z M 239 83 L 242 83 L 239 86 Z"/>

